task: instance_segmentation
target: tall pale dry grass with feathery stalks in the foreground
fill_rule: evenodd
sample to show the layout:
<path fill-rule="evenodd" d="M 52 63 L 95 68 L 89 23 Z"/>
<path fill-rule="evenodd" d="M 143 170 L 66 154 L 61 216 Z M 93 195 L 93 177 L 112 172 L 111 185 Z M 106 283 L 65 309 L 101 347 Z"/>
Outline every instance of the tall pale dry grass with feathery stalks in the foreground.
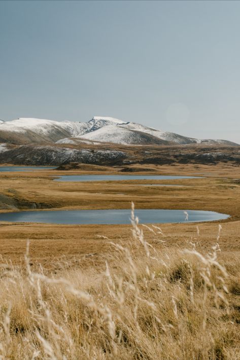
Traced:
<path fill-rule="evenodd" d="M 158 247 L 134 217 L 128 241 L 105 238 L 105 270 L 32 271 L 28 251 L 25 268 L 3 265 L 0 358 L 239 359 L 240 260 L 221 255 L 221 226 L 204 253 L 197 228 L 182 249 L 146 231 Z"/>

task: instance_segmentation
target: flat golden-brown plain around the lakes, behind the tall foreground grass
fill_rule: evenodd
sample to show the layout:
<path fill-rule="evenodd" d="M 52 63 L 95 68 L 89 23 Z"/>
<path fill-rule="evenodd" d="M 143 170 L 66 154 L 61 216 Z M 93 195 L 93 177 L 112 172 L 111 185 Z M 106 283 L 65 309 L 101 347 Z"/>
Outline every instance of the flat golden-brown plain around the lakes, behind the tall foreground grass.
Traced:
<path fill-rule="evenodd" d="M 140 167 L 138 166 L 138 169 Z M 63 174 L 83 174 L 86 170 L 75 171 L 34 171 L 0 174 L 1 193 L 26 203 L 42 204 L 51 209 L 111 209 L 135 208 L 201 209 L 213 210 L 231 215 L 223 222 L 221 248 L 237 251 L 240 247 L 240 171 L 237 166 L 227 165 L 176 165 L 152 166 L 149 174 L 176 174 L 204 176 L 162 181 L 122 181 L 122 182 L 56 182 Z M 90 173 L 118 173 L 119 168 Z M 144 167 L 143 167 L 144 170 Z M 89 173 L 89 171 L 88 171 Z M 121 173 L 121 172 L 120 172 Z M 126 173 L 122 173 L 126 174 Z M 134 174 L 146 174 L 134 172 Z M 182 187 L 140 186 L 140 184 L 173 184 Z M 10 210 L 2 210 L 10 211 Z M 51 211 L 49 209 L 49 211 Z M 202 223 L 199 241 L 208 247 L 216 233 L 217 223 Z M 167 246 L 182 246 L 196 235 L 195 224 L 162 225 Z M 131 226 L 125 225 L 47 225 L 47 224 L 0 224 L 0 251 L 5 259 L 14 264 L 23 261 L 26 241 L 31 241 L 30 254 L 33 262 L 52 267 L 54 259 L 75 261 L 75 258 L 91 259 L 94 264 L 104 261 L 109 244 L 100 236 L 107 236 L 119 242 L 129 239 Z M 147 229 L 148 240 L 152 233 Z M 212 240 L 211 240 L 212 239 Z M 154 240 L 153 240 L 154 241 Z M 50 261 L 51 260 L 51 261 Z M 53 262 L 52 262 L 53 261 Z"/>

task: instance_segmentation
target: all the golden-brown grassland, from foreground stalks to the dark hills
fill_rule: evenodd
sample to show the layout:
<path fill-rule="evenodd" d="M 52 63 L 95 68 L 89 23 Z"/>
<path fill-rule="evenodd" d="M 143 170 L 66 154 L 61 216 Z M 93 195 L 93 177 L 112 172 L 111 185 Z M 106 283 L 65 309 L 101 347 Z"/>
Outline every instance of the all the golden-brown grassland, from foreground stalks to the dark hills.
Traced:
<path fill-rule="evenodd" d="M 43 208 L 129 208 L 133 201 L 231 215 L 221 227 L 1 223 L 0 358 L 240 358 L 239 170 L 152 169 L 206 177 L 156 182 L 186 186 L 168 188 L 52 181 L 66 171 L 0 175 L 2 194 Z"/>

